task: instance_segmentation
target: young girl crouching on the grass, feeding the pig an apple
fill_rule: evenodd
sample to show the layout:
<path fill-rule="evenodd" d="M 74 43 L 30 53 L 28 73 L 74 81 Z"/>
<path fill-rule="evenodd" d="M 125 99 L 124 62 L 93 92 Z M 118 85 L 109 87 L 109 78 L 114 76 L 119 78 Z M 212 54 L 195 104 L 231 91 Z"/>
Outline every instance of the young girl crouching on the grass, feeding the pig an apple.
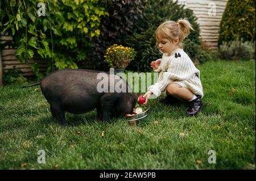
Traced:
<path fill-rule="evenodd" d="M 167 96 L 164 101 L 172 103 L 175 98 L 191 102 L 188 115 L 195 115 L 203 107 L 203 87 L 200 81 L 200 71 L 195 67 L 187 53 L 184 52 L 183 40 L 193 30 L 188 20 L 162 23 L 155 31 L 158 49 L 163 57 L 151 62 L 151 68 L 160 72 L 158 81 L 148 87 L 144 94 L 147 104 L 148 97 Z"/>

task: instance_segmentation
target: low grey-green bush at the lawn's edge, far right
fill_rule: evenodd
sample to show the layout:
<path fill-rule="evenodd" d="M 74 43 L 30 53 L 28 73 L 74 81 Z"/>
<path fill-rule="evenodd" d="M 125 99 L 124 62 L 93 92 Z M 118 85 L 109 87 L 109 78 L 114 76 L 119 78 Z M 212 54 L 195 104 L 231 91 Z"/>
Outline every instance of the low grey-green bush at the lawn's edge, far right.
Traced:
<path fill-rule="evenodd" d="M 224 41 L 218 52 L 220 57 L 225 60 L 250 60 L 255 58 L 255 41 L 243 42 L 238 38 L 234 41 Z"/>

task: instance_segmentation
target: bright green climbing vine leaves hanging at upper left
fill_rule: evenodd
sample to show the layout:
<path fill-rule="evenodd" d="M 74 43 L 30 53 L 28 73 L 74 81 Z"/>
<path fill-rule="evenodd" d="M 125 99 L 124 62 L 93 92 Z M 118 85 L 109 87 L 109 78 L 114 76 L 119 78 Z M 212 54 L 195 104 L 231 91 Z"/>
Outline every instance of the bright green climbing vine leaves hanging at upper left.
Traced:
<path fill-rule="evenodd" d="M 108 13 L 98 0 L 39 2 L 44 2 L 45 16 L 39 16 L 43 11 L 36 0 L 1 2 L 3 32 L 14 36 L 16 56 L 25 62 L 46 58 L 52 70 L 77 68 L 77 62 L 85 60 L 89 39 L 100 35 L 100 20 Z"/>

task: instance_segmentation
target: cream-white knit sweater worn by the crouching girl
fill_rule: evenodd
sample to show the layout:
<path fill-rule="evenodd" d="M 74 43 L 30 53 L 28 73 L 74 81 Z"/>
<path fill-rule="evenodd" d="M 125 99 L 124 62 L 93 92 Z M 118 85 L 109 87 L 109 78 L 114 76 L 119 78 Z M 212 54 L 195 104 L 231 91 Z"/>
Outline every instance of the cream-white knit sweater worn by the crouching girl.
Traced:
<path fill-rule="evenodd" d="M 175 53 L 180 57 L 175 58 Z M 148 87 L 155 96 L 166 96 L 166 87 L 169 83 L 174 82 L 182 87 L 192 91 L 195 95 L 202 98 L 203 87 L 200 81 L 200 71 L 193 64 L 187 53 L 183 49 L 176 49 L 170 54 L 163 54 L 161 64 L 155 72 L 160 72 L 158 81 Z"/>

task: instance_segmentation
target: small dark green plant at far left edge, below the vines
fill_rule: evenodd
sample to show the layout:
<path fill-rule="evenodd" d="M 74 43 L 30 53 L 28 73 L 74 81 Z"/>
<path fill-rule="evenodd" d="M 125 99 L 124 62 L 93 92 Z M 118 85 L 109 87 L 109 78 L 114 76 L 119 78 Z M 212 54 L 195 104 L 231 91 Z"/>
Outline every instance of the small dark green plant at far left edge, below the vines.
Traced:
<path fill-rule="evenodd" d="M 3 71 L 3 84 L 7 85 L 10 83 L 24 83 L 27 82 L 26 77 L 23 77 L 22 71 L 16 69 L 9 69 L 7 71 Z"/>

